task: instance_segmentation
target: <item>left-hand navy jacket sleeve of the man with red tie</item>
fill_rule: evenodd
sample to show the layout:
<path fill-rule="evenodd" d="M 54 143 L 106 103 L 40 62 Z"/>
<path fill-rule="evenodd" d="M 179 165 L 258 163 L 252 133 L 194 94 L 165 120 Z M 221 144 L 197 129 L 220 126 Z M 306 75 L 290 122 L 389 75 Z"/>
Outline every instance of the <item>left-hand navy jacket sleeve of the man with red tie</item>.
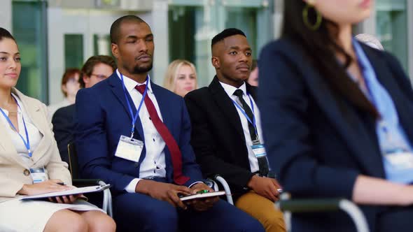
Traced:
<path fill-rule="evenodd" d="M 123 191 L 134 177 L 111 171 L 109 145 L 104 126 L 104 110 L 93 89 L 80 89 L 76 95 L 76 150 L 80 175 L 103 179 L 113 184 L 113 189 Z"/>

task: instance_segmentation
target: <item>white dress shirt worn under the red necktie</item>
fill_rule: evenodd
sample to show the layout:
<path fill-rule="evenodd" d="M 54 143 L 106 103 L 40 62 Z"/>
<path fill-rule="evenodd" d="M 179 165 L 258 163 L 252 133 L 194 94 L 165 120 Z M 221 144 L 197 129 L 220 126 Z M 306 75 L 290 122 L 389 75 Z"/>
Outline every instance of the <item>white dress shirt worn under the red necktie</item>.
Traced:
<path fill-rule="evenodd" d="M 118 69 L 116 70 L 118 77 L 120 78 L 120 73 Z M 148 75 L 149 78 L 149 75 Z M 144 83 L 138 83 L 130 78 L 123 75 L 123 82 L 125 83 L 126 91 L 130 94 L 135 108 L 139 108 L 139 103 L 141 103 L 142 94 L 135 89 L 137 85 L 145 85 Z M 153 94 L 151 87 L 151 80 L 148 81 L 148 92 L 146 96 L 151 99 L 153 105 L 155 106 L 158 116 L 163 122 L 162 115 L 160 113 L 160 108 L 156 97 Z M 139 178 L 135 178 L 130 182 L 130 184 L 125 187 L 125 190 L 129 193 L 135 192 L 135 187 L 137 186 L 139 180 L 148 177 L 166 177 L 166 163 L 165 163 L 165 141 L 160 136 L 160 133 L 156 130 L 153 125 L 152 120 L 149 117 L 148 109 L 146 108 L 145 102 L 142 103 L 141 110 L 139 110 L 139 119 L 141 119 L 142 129 L 144 129 L 145 140 L 143 141 L 146 147 L 146 156 L 141 163 L 139 168 Z M 125 134 L 124 136 L 130 136 Z"/>

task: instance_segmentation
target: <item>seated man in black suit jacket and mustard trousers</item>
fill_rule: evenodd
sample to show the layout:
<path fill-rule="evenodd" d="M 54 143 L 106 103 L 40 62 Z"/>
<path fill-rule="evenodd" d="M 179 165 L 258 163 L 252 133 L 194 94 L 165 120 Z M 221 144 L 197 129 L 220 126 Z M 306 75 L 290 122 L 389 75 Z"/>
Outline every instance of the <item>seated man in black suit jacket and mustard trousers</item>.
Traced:
<path fill-rule="evenodd" d="M 246 83 L 251 47 L 239 29 L 225 29 L 212 39 L 211 47 L 214 80 L 185 97 L 197 162 L 205 175 L 223 176 L 235 194 L 235 205 L 258 219 L 266 231 L 285 231 L 282 213 L 274 208 L 279 184 L 267 177 L 262 152 L 257 88 Z"/>

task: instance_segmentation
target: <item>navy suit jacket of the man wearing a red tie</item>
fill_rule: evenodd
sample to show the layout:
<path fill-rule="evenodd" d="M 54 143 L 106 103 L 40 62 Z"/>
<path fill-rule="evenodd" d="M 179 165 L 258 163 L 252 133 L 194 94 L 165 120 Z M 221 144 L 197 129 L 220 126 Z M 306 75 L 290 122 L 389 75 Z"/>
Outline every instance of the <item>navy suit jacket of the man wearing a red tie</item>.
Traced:
<path fill-rule="evenodd" d="M 115 72 L 91 88 L 80 89 L 76 96 L 75 117 L 80 175 L 102 179 L 112 184 L 112 190 L 118 193 L 124 191 L 134 178 L 139 177 L 139 167 L 146 156 L 146 147 L 137 163 L 114 155 L 120 136 L 130 136 L 132 122 L 122 85 Z M 185 185 L 202 180 L 200 166 L 195 163 L 195 154 L 190 146 L 190 119 L 183 98 L 153 82 L 151 87 L 163 122 L 181 149 L 183 174 L 190 177 Z M 136 108 L 129 93 L 127 97 L 135 114 Z M 139 117 L 135 124 L 134 138 L 145 141 Z M 165 162 L 167 181 L 173 182 L 172 159 L 166 146 Z"/>

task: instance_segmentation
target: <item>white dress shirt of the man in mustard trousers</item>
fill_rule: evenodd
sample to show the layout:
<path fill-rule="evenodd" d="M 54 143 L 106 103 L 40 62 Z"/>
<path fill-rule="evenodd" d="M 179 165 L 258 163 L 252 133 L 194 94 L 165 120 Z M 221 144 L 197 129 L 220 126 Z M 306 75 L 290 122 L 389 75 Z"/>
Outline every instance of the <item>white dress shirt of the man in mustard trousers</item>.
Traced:
<path fill-rule="evenodd" d="M 239 103 L 239 106 L 242 107 L 241 103 L 239 102 L 239 99 L 237 96 L 234 95 L 235 90 L 237 90 L 236 87 L 233 87 L 232 85 L 228 85 L 225 84 L 223 82 L 221 82 L 221 86 L 224 88 L 225 92 L 228 94 L 228 96 L 230 96 L 230 98 L 234 101 L 237 101 L 237 103 Z M 249 100 L 249 97 L 246 95 L 246 85 L 245 82 L 243 85 L 241 85 L 241 87 L 239 87 L 238 89 L 241 89 L 242 92 L 244 93 L 242 95 L 244 101 L 248 104 L 248 106 L 251 108 L 252 111 L 252 107 L 251 107 L 251 102 Z M 257 126 L 257 131 L 258 131 L 258 136 L 260 138 L 260 143 L 264 144 L 264 140 L 262 140 L 262 129 L 261 129 L 261 119 L 260 119 L 260 110 L 258 110 L 258 106 L 255 103 L 254 99 L 251 97 L 251 100 L 253 102 L 253 106 L 254 106 L 254 117 L 255 117 L 255 124 Z M 235 108 L 237 108 L 236 106 L 234 106 Z M 244 131 L 244 137 L 245 137 L 245 143 L 246 143 L 246 149 L 248 150 L 248 160 L 249 160 L 249 165 L 251 168 L 251 172 L 256 172 L 259 171 L 259 167 L 258 167 L 258 159 L 257 157 L 255 157 L 255 154 L 253 152 L 253 149 L 251 148 L 251 146 L 253 145 L 253 141 L 251 140 L 251 136 L 249 134 L 249 129 L 248 129 L 248 120 L 246 119 L 245 115 L 241 112 L 241 110 L 239 110 L 239 108 L 237 108 L 237 112 L 239 115 L 239 119 L 241 119 L 241 125 L 242 125 L 242 131 Z"/>

